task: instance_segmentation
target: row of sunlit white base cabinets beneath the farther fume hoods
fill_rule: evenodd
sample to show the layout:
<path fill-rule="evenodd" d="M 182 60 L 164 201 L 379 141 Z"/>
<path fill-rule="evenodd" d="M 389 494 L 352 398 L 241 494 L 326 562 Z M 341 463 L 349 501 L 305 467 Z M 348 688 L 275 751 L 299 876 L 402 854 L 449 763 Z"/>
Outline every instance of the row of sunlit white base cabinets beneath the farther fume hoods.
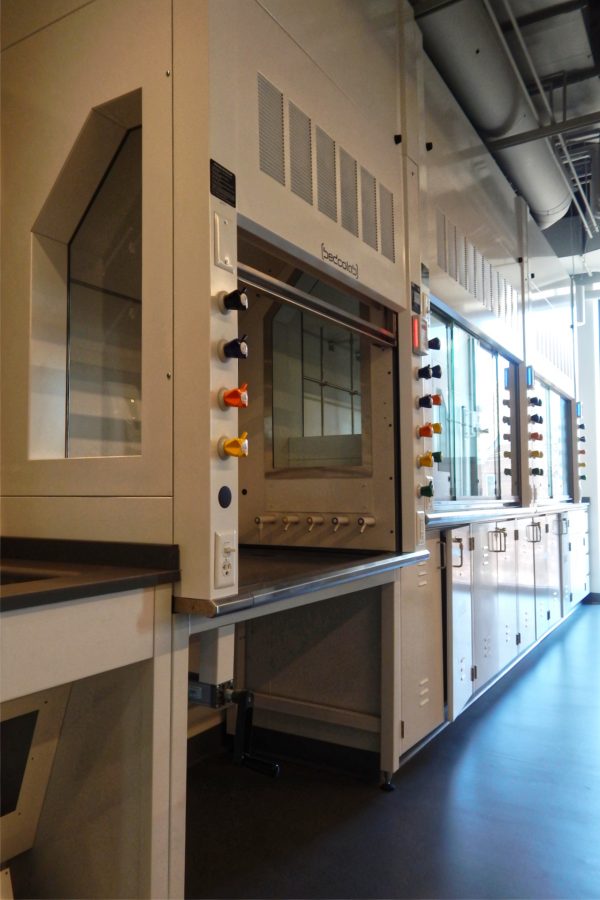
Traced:
<path fill-rule="evenodd" d="M 448 718 L 589 593 L 587 510 L 448 531 Z"/>

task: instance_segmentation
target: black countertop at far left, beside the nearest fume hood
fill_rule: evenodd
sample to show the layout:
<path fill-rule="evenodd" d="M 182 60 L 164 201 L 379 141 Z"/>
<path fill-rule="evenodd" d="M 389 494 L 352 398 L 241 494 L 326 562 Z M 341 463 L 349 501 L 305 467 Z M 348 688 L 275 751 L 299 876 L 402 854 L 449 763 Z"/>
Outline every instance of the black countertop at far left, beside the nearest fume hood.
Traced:
<path fill-rule="evenodd" d="M 2 538 L 0 611 L 179 581 L 172 544 Z"/>

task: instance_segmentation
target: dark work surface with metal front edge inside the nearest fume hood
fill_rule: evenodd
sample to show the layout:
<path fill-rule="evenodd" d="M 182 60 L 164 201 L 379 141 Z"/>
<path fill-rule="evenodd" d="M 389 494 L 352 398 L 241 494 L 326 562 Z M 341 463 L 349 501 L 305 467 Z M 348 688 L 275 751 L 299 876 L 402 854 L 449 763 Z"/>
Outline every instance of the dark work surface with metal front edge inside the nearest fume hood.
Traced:
<path fill-rule="evenodd" d="M 173 611 L 214 618 L 391 572 L 429 558 L 412 553 L 365 553 L 289 547 L 240 547 L 239 589 L 230 597 L 174 597 Z"/>

